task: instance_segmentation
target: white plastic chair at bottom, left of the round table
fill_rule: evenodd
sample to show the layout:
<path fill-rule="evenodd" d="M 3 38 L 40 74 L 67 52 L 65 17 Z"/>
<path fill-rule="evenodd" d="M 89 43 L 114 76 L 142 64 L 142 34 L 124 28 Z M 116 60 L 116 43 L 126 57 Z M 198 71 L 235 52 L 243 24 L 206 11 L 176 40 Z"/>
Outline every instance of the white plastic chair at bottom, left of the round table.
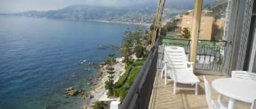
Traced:
<path fill-rule="evenodd" d="M 212 100 L 212 97 L 211 97 L 211 87 L 210 87 L 209 82 L 205 78 L 205 75 L 204 75 L 204 84 L 205 84 L 205 96 L 206 96 L 206 101 L 207 101 L 207 104 L 208 104 L 208 108 L 209 109 L 224 109 L 224 108 L 228 108 L 228 102 Z"/>

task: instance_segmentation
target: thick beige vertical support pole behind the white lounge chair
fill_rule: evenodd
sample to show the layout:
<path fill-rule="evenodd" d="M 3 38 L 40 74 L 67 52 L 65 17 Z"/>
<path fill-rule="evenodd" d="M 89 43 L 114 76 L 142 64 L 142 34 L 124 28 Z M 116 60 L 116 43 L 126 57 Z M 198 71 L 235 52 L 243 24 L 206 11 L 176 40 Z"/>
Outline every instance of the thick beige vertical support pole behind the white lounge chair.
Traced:
<path fill-rule="evenodd" d="M 197 48 L 198 48 L 198 37 L 200 30 L 200 20 L 201 20 L 201 12 L 202 12 L 203 0 L 194 0 L 194 14 L 193 14 L 193 25 L 192 25 L 192 37 L 191 37 L 191 51 L 190 51 L 190 61 L 197 61 Z M 195 65 L 193 65 L 193 69 L 195 69 Z"/>

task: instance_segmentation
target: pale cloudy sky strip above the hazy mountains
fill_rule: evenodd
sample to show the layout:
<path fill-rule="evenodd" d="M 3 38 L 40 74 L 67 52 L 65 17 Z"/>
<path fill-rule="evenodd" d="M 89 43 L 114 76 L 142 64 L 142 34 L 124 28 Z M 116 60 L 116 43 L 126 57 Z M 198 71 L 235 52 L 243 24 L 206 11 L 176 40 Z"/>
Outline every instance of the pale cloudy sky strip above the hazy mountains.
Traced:
<path fill-rule="evenodd" d="M 0 13 L 56 10 L 74 4 L 122 7 L 154 0 L 0 0 Z"/>

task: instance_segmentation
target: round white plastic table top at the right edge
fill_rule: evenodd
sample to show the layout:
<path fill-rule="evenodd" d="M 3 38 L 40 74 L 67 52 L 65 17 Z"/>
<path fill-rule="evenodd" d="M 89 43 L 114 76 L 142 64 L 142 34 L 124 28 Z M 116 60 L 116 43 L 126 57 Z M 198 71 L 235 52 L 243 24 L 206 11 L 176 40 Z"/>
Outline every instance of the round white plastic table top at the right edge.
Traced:
<path fill-rule="evenodd" d="M 212 87 L 218 93 L 235 100 L 250 103 L 256 98 L 256 81 L 253 80 L 221 78 L 213 80 Z"/>

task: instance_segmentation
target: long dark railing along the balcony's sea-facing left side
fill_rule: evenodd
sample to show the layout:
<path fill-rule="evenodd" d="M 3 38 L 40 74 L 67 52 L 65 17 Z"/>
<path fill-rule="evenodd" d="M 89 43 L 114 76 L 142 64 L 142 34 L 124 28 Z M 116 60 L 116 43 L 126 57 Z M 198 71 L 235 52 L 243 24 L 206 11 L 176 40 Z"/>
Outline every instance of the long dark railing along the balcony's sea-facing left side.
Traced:
<path fill-rule="evenodd" d="M 120 109 L 147 109 L 153 89 L 154 78 L 157 72 L 159 39 L 150 54 L 148 54 L 144 66 L 133 82 L 129 92 L 124 98 Z"/>

